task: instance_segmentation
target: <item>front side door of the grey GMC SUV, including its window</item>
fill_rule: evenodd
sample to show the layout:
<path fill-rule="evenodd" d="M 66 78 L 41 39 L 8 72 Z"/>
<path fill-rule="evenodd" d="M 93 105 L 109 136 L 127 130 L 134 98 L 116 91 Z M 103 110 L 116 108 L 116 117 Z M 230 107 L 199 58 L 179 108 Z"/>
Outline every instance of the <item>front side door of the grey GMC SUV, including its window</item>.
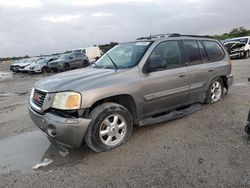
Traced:
<path fill-rule="evenodd" d="M 184 104 L 189 90 L 187 67 L 183 64 L 178 40 L 159 43 L 144 67 L 153 59 L 166 61 L 166 67 L 141 73 L 142 111 L 145 116 Z"/>

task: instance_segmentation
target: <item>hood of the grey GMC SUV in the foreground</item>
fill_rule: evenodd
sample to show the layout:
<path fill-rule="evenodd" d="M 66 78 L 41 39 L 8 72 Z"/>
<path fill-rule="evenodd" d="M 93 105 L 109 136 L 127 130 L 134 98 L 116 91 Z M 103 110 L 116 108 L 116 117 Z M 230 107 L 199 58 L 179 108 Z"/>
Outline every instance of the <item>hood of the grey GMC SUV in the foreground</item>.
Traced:
<path fill-rule="evenodd" d="M 115 73 L 113 69 L 82 68 L 49 76 L 38 81 L 35 88 L 48 92 L 67 90 L 82 92 L 85 84 L 89 85 L 97 79 L 103 79 Z"/>

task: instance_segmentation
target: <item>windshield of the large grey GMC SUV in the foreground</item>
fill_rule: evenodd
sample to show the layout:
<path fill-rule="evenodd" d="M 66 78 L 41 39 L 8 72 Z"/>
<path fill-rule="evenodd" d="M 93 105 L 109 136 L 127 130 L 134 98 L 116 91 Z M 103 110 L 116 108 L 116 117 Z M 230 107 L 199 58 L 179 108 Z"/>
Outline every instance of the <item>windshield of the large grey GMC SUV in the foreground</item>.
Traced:
<path fill-rule="evenodd" d="M 98 59 L 95 63 L 95 67 L 108 69 L 133 67 L 138 64 L 151 43 L 152 42 L 133 42 L 117 45 Z"/>

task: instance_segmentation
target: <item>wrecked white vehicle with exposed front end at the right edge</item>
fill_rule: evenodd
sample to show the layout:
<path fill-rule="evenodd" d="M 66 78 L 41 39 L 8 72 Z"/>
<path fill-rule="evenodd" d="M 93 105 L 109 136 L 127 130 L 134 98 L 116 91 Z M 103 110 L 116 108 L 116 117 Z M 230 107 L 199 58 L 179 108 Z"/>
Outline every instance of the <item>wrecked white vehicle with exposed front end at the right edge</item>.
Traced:
<path fill-rule="evenodd" d="M 250 36 L 225 40 L 224 45 L 231 58 L 248 58 L 250 55 Z"/>

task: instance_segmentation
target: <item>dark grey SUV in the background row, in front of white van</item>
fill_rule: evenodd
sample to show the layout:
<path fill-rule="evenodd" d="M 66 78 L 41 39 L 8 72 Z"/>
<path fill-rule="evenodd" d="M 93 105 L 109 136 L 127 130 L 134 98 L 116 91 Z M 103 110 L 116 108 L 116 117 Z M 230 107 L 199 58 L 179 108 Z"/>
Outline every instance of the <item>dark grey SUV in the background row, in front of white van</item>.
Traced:
<path fill-rule="evenodd" d="M 57 60 L 49 63 L 49 69 L 56 71 L 67 71 L 73 68 L 89 66 L 88 57 L 82 53 L 66 53 L 61 55 Z"/>

